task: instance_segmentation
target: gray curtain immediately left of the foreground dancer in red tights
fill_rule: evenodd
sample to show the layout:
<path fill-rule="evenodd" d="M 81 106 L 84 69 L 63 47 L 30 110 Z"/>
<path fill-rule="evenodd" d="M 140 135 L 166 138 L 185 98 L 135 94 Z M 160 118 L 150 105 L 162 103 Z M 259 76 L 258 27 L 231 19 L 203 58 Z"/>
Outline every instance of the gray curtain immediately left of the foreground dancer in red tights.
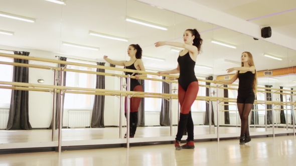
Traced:
<path fill-rule="evenodd" d="M 166 79 L 166 77 L 163 76 L 163 79 Z M 168 82 L 163 82 L 163 93 L 170 93 L 170 84 Z M 162 99 L 160 124 L 161 126 L 170 126 L 170 101 L 166 99 Z"/>

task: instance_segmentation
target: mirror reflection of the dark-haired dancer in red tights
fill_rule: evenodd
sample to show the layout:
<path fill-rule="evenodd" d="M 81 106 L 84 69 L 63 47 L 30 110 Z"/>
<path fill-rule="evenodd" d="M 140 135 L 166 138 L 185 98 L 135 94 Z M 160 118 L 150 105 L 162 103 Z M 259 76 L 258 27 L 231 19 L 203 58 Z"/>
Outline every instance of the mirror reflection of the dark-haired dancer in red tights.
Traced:
<path fill-rule="evenodd" d="M 145 67 L 141 60 L 142 57 L 142 48 L 138 44 L 130 44 L 127 49 L 127 54 L 130 57 L 129 61 L 115 61 L 108 58 L 108 56 L 104 56 L 104 59 L 111 64 L 121 65 L 124 68 L 134 69 L 134 70 L 142 70 L 145 71 Z M 132 74 L 132 72 L 125 72 L 125 75 Z M 138 82 L 138 78 L 140 76 L 146 77 L 147 74 L 136 74 L 134 78 L 130 78 L 130 90 L 131 91 L 143 91 L 141 84 Z M 129 137 L 134 137 L 135 130 L 138 122 L 138 108 L 141 102 L 141 97 L 131 97 L 130 98 L 130 120 L 129 120 Z M 126 97 L 124 102 L 124 114 L 126 117 Z M 125 136 L 126 137 L 126 134 Z"/>

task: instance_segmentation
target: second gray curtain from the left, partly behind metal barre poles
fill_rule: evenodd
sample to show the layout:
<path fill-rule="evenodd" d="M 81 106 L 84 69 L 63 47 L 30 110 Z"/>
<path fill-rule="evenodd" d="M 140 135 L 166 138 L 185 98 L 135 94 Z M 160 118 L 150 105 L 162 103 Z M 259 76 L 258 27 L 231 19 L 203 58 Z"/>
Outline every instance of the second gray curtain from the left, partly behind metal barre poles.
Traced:
<path fill-rule="evenodd" d="M 63 61 L 67 61 L 67 57 L 63 57 L 63 56 L 60 56 L 59 57 L 59 60 L 63 60 Z M 65 67 L 66 64 L 58 64 L 58 67 Z M 66 86 L 66 74 L 67 72 L 66 71 L 63 71 L 63 85 L 62 86 Z M 60 86 L 61 83 L 60 83 L 60 79 L 61 79 L 61 73 L 60 71 L 57 71 L 57 74 L 56 74 L 56 85 L 57 86 Z M 63 103 L 62 103 L 62 107 L 64 107 L 64 101 L 65 101 L 65 93 L 63 94 Z M 59 120 L 59 108 L 60 108 L 60 99 L 61 99 L 61 95 L 60 93 L 57 93 L 57 99 L 56 99 L 56 129 L 58 128 L 58 120 Z M 62 113 L 63 115 L 63 113 Z M 63 118 L 63 116 L 62 116 Z M 51 123 L 50 123 L 50 126 L 48 127 L 49 129 L 52 128 L 52 120 L 51 120 Z"/>

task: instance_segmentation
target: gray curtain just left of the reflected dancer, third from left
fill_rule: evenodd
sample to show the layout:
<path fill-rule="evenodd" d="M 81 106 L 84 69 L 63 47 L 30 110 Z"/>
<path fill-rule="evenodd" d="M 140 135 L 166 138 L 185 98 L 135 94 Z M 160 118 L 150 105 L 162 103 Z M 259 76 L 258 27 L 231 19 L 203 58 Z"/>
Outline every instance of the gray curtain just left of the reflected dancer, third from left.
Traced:
<path fill-rule="evenodd" d="M 97 65 L 105 65 L 105 62 L 97 62 Z M 105 69 L 97 68 L 97 72 L 105 72 Z M 97 75 L 96 88 L 105 88 L 105 75 Z M 104 106 L 105 96 L 95 95 L 90 126 L 93 128 L 104 128 Z"/>

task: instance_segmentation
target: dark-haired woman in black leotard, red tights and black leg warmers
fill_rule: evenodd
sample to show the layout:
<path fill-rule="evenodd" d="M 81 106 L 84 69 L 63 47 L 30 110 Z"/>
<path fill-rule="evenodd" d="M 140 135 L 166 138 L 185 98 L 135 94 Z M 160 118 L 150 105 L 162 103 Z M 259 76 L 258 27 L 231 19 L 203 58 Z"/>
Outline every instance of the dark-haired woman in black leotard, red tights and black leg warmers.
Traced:
<path fill-rule="evenodd" d="M 178 66 L 176 69 L 158 72 L 159 75 L 180 73 L 180 76 L 178 78 L 178 99 L 181 105 L 181 113 L 175 141 L 176 150 L 181 150 L 182 148 L 194 148 L 194 125 L 190 109 L 196 99 L 199 89 L 198 80 L 194 72 L 194 67 L 197 55 L 199 54 L 203 42 L 203 39 L 200 37 L 200 34 L 196 29 L 185 30 L 183 34 L 183 40 L 185 43 L 170 41 L 159 41 L 155 43 L 156 47 L 163 45 L 172 45 L 185 48 L 179 53 Z M 180 146 L 180 141 L 185 128 L 187 129 L 188 134 L 187 143 Z"/>

